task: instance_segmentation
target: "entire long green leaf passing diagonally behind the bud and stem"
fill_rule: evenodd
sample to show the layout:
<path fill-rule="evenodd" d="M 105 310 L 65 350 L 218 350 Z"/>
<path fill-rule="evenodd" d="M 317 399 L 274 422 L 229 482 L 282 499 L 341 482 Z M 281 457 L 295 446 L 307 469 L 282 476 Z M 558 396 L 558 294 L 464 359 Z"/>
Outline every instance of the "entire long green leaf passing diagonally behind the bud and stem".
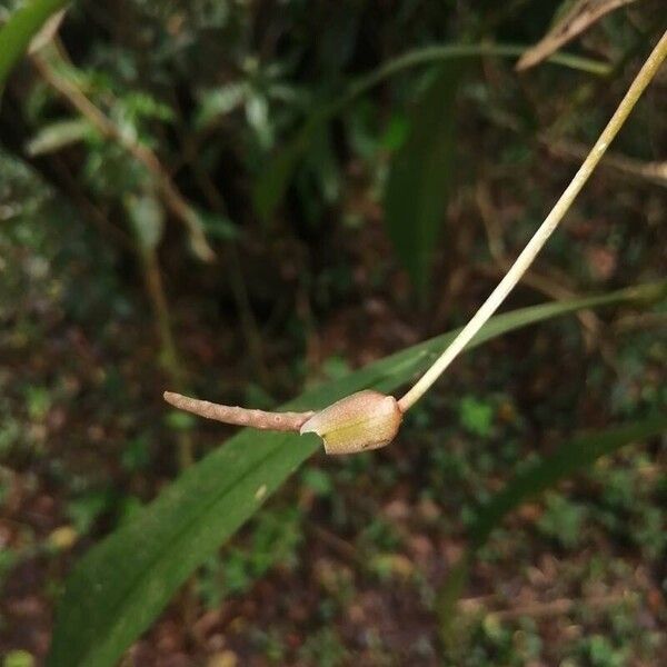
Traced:
<path fill-rule="evenodd" d="M 647 285 L 500 315 L 469 347 L 580 308 L 657 298 L 665 289 L 665 283 Z M 283 407 L 321 408 L 368 387 L 392 391 L 425 370 L 455 335 L 391 355 Z M 48 665 L 115 665 L 192 571 L 319 448 L 316 436 L 242 430 L 187 469 L 74 567 L 58 605 Z"/>

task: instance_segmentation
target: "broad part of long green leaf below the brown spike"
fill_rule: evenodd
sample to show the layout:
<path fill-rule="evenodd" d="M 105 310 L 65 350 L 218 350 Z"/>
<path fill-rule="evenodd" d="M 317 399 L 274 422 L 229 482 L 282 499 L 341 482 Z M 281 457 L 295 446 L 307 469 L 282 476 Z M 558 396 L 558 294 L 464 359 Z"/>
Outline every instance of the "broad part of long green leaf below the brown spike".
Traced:
<path fill-rule="evenodd" d="M 70 578 L 62 600 L 67 614 L 59 618 L 49 665 L 116 664 L 203 555 L 255 514 L 318 446 L 310 440 L 308 447 L 298 436 L 267 434 L 261 442 L 251 436 L 245 431 L 213 451 L 150 511 L 89 552 Z M 91 597 L 96 604 L 88 604 Z"/>

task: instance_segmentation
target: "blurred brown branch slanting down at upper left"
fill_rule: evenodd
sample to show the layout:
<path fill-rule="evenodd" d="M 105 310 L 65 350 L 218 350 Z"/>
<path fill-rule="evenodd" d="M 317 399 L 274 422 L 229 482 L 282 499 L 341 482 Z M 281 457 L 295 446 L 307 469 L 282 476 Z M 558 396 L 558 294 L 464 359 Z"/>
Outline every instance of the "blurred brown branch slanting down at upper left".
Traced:
<path fill-rule="evenodd" d="M 116 123 L 100 111 L 72 81 L 58 72 L 52 62 L 61 58 L 56 51 L 52 51 L 53 54 L 49 59 L 44 58 L 41 54 L 42 52 L 34 53 L 32 62 L 44 81 L 81 113 L 102 137 L 122 146 L 137 161 L 141 162 L 148 169 L 156 181 L 167 208 L 188 229 L 192 250 L 201 260 L 212 261 L 215 255 L 206 239 L 198 215 L 180 193 L 156 153 L 150 148 L 126 137 Z"/>

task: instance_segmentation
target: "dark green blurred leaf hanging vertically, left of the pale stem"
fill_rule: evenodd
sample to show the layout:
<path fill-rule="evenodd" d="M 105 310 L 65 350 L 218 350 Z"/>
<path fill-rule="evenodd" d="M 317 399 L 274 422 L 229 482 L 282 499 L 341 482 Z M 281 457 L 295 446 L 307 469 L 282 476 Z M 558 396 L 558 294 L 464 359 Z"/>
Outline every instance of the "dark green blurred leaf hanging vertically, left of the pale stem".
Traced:
<path fill-rule="evenodd" d="M 391 159 L 386 185 L 387 233 L 422 298 L 447 210 L 460 77 L 460 69 L 448 64 L 421 93 L 409 115 L 408 138 Z"/>

